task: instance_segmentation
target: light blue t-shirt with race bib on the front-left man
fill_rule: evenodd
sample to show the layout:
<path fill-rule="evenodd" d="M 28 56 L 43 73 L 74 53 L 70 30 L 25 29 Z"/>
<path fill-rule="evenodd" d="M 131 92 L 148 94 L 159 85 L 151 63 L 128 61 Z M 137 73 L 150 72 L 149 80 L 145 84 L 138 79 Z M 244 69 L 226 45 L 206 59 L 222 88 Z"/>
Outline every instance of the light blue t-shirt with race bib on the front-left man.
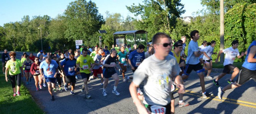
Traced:
<path fill-rule="evenodd" d="M 46 63 L 44 60 L 39 66 L 39 69 L 43 69 L 45 78 L 54 78 L 54 74 L 56 73 L 57 68 L 58 63 L 55 60 L 51 60 L 50 64 Z"/>

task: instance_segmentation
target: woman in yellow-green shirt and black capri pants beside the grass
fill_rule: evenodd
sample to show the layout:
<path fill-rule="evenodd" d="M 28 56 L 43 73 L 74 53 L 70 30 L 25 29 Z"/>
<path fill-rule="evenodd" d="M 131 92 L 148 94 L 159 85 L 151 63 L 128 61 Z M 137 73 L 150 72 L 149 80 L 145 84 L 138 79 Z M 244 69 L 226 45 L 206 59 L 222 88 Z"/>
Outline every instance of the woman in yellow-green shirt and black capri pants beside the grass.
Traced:
<path fill-rule="evenodd" d="M 5 80 L 8 82 L 8 73 L 9 78 L 11 80 L 11 87 L 13 89 L 13 97 L 16 95 L 20 95 L 19 89 L 21 86 L 21 77 L 23 77 L 23 70 L 22 70 L 22 63 L 19 59 L 16 59 L 16 53 L 10 52 L 9 53 L 11 60 L 8 60 L 5 65 Z M 16 80 L 17 81 L 16 81 Z M 17 91 L 16 91 L 16 83 L 17 82 Z"/>

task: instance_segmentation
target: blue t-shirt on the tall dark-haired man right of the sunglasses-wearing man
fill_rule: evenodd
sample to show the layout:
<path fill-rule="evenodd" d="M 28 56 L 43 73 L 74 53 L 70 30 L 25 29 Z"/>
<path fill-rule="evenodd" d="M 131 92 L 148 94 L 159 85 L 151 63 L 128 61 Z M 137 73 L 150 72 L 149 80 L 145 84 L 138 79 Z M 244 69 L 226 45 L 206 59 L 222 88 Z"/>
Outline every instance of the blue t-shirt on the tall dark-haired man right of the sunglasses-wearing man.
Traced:
<path fill-rule="evenodd" d="M 188 57 L 186 58 L 186 64 L 196 65 L 200 62 L 199 57 L 194 55 L 194 52 L 198 51 L 198 49 L 198 42 L 191 40 L 188 44 Z"/>

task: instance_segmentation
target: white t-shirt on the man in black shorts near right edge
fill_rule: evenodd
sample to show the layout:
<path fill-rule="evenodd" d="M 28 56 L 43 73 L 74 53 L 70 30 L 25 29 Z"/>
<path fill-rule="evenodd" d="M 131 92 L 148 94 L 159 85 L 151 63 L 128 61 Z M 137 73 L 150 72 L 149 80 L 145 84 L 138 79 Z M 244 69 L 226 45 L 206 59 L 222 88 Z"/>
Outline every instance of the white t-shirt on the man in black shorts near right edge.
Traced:
<path fill-rule="evenodd" d="M 233 49 L 232 47 L 228 47 L 222 51 L 225 54 L 223 66 L 233 64 L 235 57 L 240 55 L 238 49 Z"/>

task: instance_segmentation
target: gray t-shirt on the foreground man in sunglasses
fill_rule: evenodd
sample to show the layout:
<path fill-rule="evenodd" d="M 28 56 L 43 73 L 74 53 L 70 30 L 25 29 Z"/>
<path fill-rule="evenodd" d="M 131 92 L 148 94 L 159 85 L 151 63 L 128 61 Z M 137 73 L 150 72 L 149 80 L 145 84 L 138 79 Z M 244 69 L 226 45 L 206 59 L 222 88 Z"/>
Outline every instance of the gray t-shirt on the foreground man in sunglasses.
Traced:
<path fill-rule="evenodd" d="M 172 78 L 180 73 L 177 60 L 172 55 L 159 60 L 155 54 L 145 59 L 133 74 L 133 83 L 144 82 L 144 104 L 164 106 L 170 103 Z"/>

